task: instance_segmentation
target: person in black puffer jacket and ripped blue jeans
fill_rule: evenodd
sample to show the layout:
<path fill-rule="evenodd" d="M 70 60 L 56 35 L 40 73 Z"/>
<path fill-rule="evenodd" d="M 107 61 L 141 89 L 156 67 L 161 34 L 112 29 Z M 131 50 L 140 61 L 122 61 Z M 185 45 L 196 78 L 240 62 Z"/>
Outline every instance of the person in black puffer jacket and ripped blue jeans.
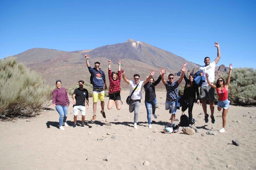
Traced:
<path fill-rule="evenodd" d="M 148 77 L 148 76 L 147 76 Z M 147 109 L 147 121 L 148 128 L 152 128 L 151 126 L 151 106 L 152 106 L 152 115 L 155 119 L 157 119 L 157 115 L 155 114 L 157 99 L 155 86 L 161 81 L 161 75 L 158 77 L 157 81 L 152 78 L 149 82 L 147 82 L 143 87 L 145 89 L 145 106 Z"/>

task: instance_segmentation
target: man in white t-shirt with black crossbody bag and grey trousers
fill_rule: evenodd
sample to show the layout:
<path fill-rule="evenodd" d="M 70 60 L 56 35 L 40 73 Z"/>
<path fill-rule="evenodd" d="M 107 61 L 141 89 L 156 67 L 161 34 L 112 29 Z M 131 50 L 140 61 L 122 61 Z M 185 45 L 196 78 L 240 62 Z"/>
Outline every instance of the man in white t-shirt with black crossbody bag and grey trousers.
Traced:
<path fill-rule="evenodd" d="M 141 95 L 142 87 L 147 82 L 149 82 L 149 80 L 154 76 L 154 73 L 155 73 L 155 70 L 151 70 L 150 76 L 145 81 L 140 81 L 140 75 L 139 74 L 134 74 L 133 75 L 134 80 L 130 81 L 125 77 L 125 70 L 121 69 L 121 74 L 123 76 L 123 79 L 130 87 L 129 96 L 131 95 L 131 93 L 135 89 L 135 87 L 138 85 L 136 90 L 131 95 L 131 102 L 129 104 L 130 113 L 132 113 L 134 111 L 134 129 L 138 129 L 137 122 L 138 122 L 139 107 L 141 105 L 141 99 L 142 99 L 142 95 Z"/>

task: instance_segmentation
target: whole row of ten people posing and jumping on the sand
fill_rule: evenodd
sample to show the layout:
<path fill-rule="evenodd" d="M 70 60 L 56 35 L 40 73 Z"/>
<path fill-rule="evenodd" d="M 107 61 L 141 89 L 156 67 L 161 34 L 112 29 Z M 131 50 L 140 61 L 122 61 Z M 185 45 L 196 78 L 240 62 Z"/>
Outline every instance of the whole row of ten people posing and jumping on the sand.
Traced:
<path fill-rule="evenodd" d="M 155 119 L 157 119 L 157 115 L 155 114 L 157 100 L 156 100 L 156 93 L 155 93 L 155 86 L 162 81 L 162 83 L 166 87 L 166 102 L 165 102 L 165 109 L 169 110 L 169 113 L 171 114 L 171 124 L 174 122 L 175 115 L 177 113 L 177 100 L 178 100 L 178 86 L 182 82 L 183 78 L 185 79 L 186 85 L 183 92 L 183 100 L 181 102 L 181 110 L 182 112 L 186 111 L 188 109 L 188 115 L 189 115 L 189 127 L 193 125 L 192 119 L 192 110 L 193 110 L 193 104 L 195 101 L 199 104 L 200 100 L 202 100 L 202 107 L 205 114 L 205 122 L 208 123 L 209 121 L 209 114 L 207 114 L 207 107 L 206 107 L 206 100 L 209 100 L 209 107 L 211 111 L 211 122 L 214 124 L 214 89 L 216 89 L 218 94 L 218 110 L 222 111 L 222 128 L 219 130 L 219 132 L 225 131 L 225 123 L 226 123 L 226 114 L 228 112 L 229 107 L 229 101 L 227 99 L 228 97 L 228 85 L 230 83 L 230 77 L 231 77 L 231 70 L 232 70 L 232 64 L 229 65 L 229 74 L 228 79 L 225 84 L 225 81 L 223 78 L 219 78 L 217 80 L 216 85 L 213 85 L 213 82 L 215 80 L 215 65 L 219 62 L 220 59 L 220 48 L 218 42 L 215 42 L 214 45 L 217 48 L 217 57 L 216 59 L 211 63 L 211 60 L 209 57 L 205 57 L 204 63 L 205 65 L 200 67 L 199 72 L 197 76 L 190 74 L 187 78 L 185 75 L 186 71 L 186 65 L 187 63 L 183 63 L 181 68 L 181 76 L 178 80 L 175 80 L 175 77 L 173 74 L 168 75 L 168 80 L 166 81 L 164 79 L 164 74 L 166 74 L 166 70 L 164 67 L 161 68 L 159 77 L 155 81 L 153 76 L 155 73 L 155 70 L 151 70 L 150 75 L 147 76 L 146 80 L 140 81 L 140 75 L 134 74 L 133 75 L 133 81 L 128 80 L 125 76 L 125 70 L 121 69 L 121 61 L 118 61 L 118 71 L 112 72 L 111 70 L 111 60 L 108 61 L 109 68 L 109 101 L 108 101 L 108 109 L 112 109 L 113 105 L 115 104 L 116 108 L 118 110 L 122 107 L 122 101 L 121 101 L 121 75 L 124 81 L 129 85 L 130 87 L 130 103 L 129 103 L 129 112 L 134 112 L 134 129 L 137 129 L 137 123 L 138 123 L 138 110 L 141 104 L 142 99 L 142 86 L 145 89 L 145 106 L 147 109 L 147 121 L 148 121 L 148 128 L 152 128 L 151 125 L 151 114 L 154 116 Z M 104 112 L 104 98 L 105 98 L 105 92 L 104 90 L 107 89 L 106 85 L 106 79 L 105 79 L 105 73 L 100 68 L 100 63 L 95 62 L 94 68 L 92 68 L 89 64 L 89 56 L 88 54 L 85 55 L 86 65 L 88 67 L 89 73 L 91 74 L 91 84 L 93 85 L 93 91 L 92 91 L 92 100 L 93 100 L 93 116 L 92 121 L 96 120 L 96 109 L 97 109 L 97 102 L 100 100 L 101 102 L 101 111 L 100 113 L 104 118 L 106 118 L 106 114 Z M 82 115 L 82 123 L 81 127 L 84 127 L 84 120 L 85 120 L 85 113 L 86 109 L 89 108 L 89 97 L 88 97 L 88 91 L 83 88 L 84 81 L 80 80 L 79 82 L 79 88 L 74 90 L 73 93 L 73 115 L 74 115 L 74 125 L 73 128 L 76 128 L 76 120 L 77 115 L 80 110 Z M 53 90 L 53 106 L 56 107 L 57 112 L 60 115 L 59 122 L 60 122 L 60 129 L 64 130 L 64 126 L 68 126 L 66 123 L 67 118 L 67 107 L 70 105 L 70 101 L 68 99 L 67 91 L 65 88 L 61 87 L 61 80 L 56 80 L 56 86 L 57 88 Z M 199 93 L 199 86 L 200 86 L 200 93 Z M 197 96 L 197 100 L 196 100 Z"/>

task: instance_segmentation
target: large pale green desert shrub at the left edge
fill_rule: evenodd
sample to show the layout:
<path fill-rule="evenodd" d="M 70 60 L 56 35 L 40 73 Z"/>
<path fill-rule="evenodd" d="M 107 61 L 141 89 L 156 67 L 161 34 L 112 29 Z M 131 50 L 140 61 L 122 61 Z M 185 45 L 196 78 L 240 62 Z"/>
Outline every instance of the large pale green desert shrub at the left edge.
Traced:
<path fill-rule="evenodd" d="M 0 60 L 0 115 L 34 116 L 50 106 L 53 89 L 16 58 Z"/>

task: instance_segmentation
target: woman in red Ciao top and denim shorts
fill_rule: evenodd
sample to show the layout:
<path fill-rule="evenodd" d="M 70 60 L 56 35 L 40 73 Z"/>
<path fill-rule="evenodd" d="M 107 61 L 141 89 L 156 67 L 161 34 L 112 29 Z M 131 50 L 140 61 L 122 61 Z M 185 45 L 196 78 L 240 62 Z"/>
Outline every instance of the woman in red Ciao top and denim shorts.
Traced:
<path fill-rule="evenodd" d="M 208 84 L 215 88 L 218 94 L 218 111 L 222 110 L 222 128 L 219 130 L 219 132 L 225 132 L 225 125 L 226 125 L 226 115 L 228 113 L 228 107 L 229 107 L 229 101 L 228 101 L 228 85 L 230 83 L 230 77 L 231 77 L 231 71 L 232 70 L 232 64 L 229 64 L 229 73 L 228 73 L 228 79 L 227 83 L 225 84 L 225 81 L 223 78 L 219 78 L 217 80 L 217 84 L 213 85 L 209 79 L 208 74 L 205 74 L 206 80 Z"/>

